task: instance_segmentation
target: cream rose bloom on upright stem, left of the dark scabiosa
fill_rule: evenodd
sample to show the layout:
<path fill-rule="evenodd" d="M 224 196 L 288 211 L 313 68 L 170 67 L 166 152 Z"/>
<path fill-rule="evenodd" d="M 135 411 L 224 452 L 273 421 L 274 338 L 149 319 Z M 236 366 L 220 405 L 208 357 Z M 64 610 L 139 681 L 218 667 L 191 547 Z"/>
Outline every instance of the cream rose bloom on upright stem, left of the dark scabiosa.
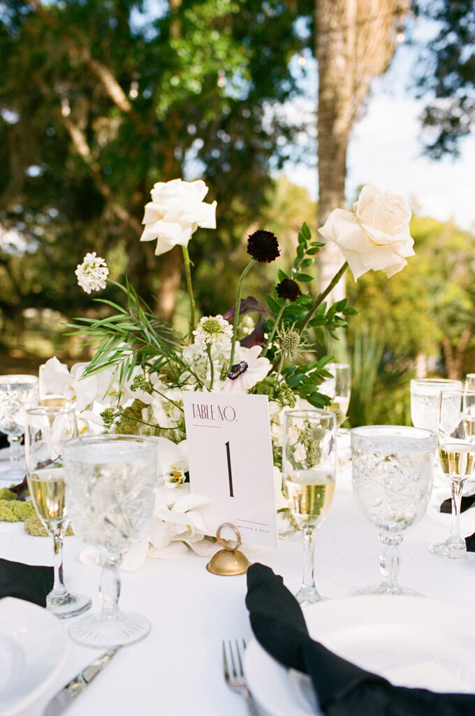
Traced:
<path fill-rule="evenodd" d="M 203 201 L 207 190 L 202 180 L 157 182 L 150 192 L 152 201 L 145 205 L 140 241 L 157 238 L 155 253 L 165 253 L 176 244 L 187 246 L 198 226 L 216 228 L 216 202 Z"/>

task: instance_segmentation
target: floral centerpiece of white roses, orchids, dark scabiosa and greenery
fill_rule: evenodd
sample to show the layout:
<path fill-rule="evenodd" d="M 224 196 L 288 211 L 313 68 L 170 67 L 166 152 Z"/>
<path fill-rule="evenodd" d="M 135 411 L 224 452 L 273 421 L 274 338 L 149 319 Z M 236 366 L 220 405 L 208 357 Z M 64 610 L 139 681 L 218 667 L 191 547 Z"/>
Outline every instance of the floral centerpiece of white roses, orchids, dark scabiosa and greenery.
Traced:
<path fill-rule="evenodd" d="M 201 180 L 157 183 L 151 194 L 141 241 L 156 240 L 157 255 L 182 246 L 190 302 L 188 335 L 177 334 L 155 316 L 128 282 L 115 284 L 124 293 L 124 306 L 102 301 L 112 315 L 78 319 L 72 326 L 97 345 L 92 360 L 69 371 L 52 358 L 43 372 L 46 391 L 60 393 L 76 405 L 82 432 L 158 436 L 162 487 L 156 490 L 147 541 L 136 551 L 142 558 L 147 550 L 152 556 L 172 556 L 187 551 L 187 546 L 198 553 L 212 549 L 200 515 L 203 498 L 190 493 L 187 481 L 185 390 L 268 396 L 280 530 L 288 528 L 280 473 L 283 412 L 330 402 L 319 385 L 329 376 L 325 365 L 332 357 L 312 357 L 310 329 L 321 345 L 325 331 L 336 337 L 339 329 L 348 327 L 348 316 L 356 314 L 347 299 L 330 306 L 325 301 L 348 266 L 355 280 L 370 269 L 392 276 L 413 255 L 411 211 L 403 198 L 366 186 L 353 212 L 336 209 L 320 228 L 320 235 L 335 242 L 346 260 L 318 296 L 308 290 L 313 281 L 308 270 L 324 244 L 312 239 L 304 223 L 292 268 L 288 274 L 278 271 L 278 284 L 265 304 L 252 296 L 243 299 L 248 273 L 280 256 L 278 238 L 260 229 L 248 238 L 249 262 L 237 283 L 235 306 L 197 321 L 187 246 L 198 226 L 215 228 L 215 203 L 204 201 L 207 187 Z M 109 280 L 107 265 L 96 253 L 84 257 L 76 274 L 87 293 L 104 289 Z M 257 318 L 243 331 L 243 316 L 249 315 Z"/>

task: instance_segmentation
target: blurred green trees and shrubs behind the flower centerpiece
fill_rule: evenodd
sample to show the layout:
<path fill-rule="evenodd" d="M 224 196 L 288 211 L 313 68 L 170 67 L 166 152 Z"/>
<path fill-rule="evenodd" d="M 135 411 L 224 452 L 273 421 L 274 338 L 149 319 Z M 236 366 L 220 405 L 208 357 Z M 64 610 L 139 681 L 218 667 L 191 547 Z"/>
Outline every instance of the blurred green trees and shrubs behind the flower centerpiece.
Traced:
<path fill-rule="evenodd" d="M 255 271 L 263 299 L 288 269 L 317 206 L 280 175 L 305 129 L 283 104 L 301 92 L 295 62 L 313 52 L 313 0 L 4 0 L 0 3 L 0 372 L 34 371 L 57 354 L 87 359 L 64 337 L 97 304 L 77 286 L 87 251 L 128 276 L 157 311 L 185 325 L 181 254 L 139 243 L 155 181 L 202 176 L 217 230 L 195 233 L 197 306 L 234 303 L 255 228 L 274 231 L 275 267 Z M 297 68 L 297 69 L 296 69 Z M 388 281 L 348 277 L 343 347 L 355 377 L 350 420 L 410 422 L 408 380 L 474 369 L 475 236 L 414 217 L 416 257 Z M 103 298 L 118 300 L 113 287 Z M 101 310 L 104 310 L 103 308 Z"/>

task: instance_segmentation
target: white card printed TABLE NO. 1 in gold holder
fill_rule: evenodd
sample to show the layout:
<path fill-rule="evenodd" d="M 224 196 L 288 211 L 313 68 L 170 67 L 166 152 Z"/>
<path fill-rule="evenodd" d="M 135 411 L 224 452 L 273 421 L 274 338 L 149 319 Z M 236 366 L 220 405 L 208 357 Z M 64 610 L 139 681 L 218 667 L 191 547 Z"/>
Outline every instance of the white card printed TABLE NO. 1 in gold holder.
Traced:
<path fill-rule="evenodd" d="M 222 522 L 230 522 L 243 542 L 277 547 L 267 396 L 186 391 L 182 395 L 190 487 L 210 498 L 202 508 L 210 534 Z"/>

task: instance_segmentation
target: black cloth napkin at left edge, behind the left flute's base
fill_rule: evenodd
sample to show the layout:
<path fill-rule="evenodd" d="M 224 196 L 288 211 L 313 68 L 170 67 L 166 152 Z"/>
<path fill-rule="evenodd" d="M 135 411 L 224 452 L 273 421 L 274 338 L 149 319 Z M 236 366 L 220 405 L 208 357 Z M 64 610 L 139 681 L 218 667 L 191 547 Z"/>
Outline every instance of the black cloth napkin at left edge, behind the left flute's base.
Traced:
<path fill-rule="evenodd" d="M 52 591 L 53 581 L 52 567 L 0 559 L 0 599 L 16 596 L 16 599 L 46 606 L 46 595 Z"/>

